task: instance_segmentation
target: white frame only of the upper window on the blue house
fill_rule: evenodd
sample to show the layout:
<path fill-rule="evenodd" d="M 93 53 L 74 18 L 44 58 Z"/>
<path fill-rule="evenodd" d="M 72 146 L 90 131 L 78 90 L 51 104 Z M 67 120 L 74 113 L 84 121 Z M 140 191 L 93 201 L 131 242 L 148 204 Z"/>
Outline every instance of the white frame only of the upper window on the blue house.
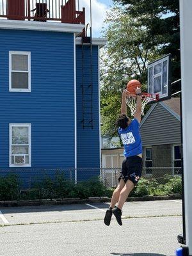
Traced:
<path fill-rule="evenodd" d="M 12 55 L 28 55 L 28 71 L 14 70 L 15 72 L 28 73 L 28 89 L 12 88 Z M 31 52 L 9 51 L 9 90 L 10 92 L 31 92 Z"/>

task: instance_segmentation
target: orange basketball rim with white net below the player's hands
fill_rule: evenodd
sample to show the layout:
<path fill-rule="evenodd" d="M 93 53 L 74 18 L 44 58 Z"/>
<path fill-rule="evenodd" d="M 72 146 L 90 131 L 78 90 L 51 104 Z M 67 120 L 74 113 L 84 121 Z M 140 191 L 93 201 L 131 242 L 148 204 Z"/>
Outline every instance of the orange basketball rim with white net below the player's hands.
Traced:
<path fill-rule="evenodd" d="M 144 115 L 144 109 L 148 102 L 150 101 L 157 101 L 159 99 L 158 94 L 151 94 L 151 93 L 141 93 L 141 115 Z M 126 103 L 131 109 L 131 115 L 134 116 L 136 111 L 136 104 L 137 104 L 137 97 L 136 94 L 128 94 L 126 98 Z"/>

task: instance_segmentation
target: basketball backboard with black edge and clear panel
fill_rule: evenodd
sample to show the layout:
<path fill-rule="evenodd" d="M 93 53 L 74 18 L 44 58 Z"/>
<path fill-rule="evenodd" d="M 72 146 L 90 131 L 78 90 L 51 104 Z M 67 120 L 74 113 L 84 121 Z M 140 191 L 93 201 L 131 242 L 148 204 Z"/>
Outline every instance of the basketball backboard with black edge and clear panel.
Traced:
<path fill-rule="evenodd" d="M 171 86 L 171 54 L 168 54 L 148 64 L 148 93 L 158 94 L 159 101 L 167 100 L 171 98 Z"/>

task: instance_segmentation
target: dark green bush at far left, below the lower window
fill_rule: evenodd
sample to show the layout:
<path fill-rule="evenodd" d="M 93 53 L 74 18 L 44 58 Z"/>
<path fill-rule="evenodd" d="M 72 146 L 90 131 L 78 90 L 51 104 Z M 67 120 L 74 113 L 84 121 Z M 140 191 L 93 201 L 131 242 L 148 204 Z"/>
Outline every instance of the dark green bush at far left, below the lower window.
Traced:
<path fill-rule="evenodd" d="M 0 200 L 17 200 L 20 182 L 15 174 L 0 177 Z"/>

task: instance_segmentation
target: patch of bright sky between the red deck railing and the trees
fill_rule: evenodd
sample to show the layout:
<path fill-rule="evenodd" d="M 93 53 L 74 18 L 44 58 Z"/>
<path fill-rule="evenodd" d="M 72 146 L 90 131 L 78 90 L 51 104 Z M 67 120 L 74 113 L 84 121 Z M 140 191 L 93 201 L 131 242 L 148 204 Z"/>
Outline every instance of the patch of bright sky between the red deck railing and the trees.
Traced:
<path fill-rule="evenodd" d="M 80 10 L 86 8 L 86 24 L 90 23 L 90 0 L 79 0 Z M 103 21 L 106 17 L 106 11 L 113 6 L 112 0 L 92 0 L 92 34 L 93 37 L 102 36 Z"/>

